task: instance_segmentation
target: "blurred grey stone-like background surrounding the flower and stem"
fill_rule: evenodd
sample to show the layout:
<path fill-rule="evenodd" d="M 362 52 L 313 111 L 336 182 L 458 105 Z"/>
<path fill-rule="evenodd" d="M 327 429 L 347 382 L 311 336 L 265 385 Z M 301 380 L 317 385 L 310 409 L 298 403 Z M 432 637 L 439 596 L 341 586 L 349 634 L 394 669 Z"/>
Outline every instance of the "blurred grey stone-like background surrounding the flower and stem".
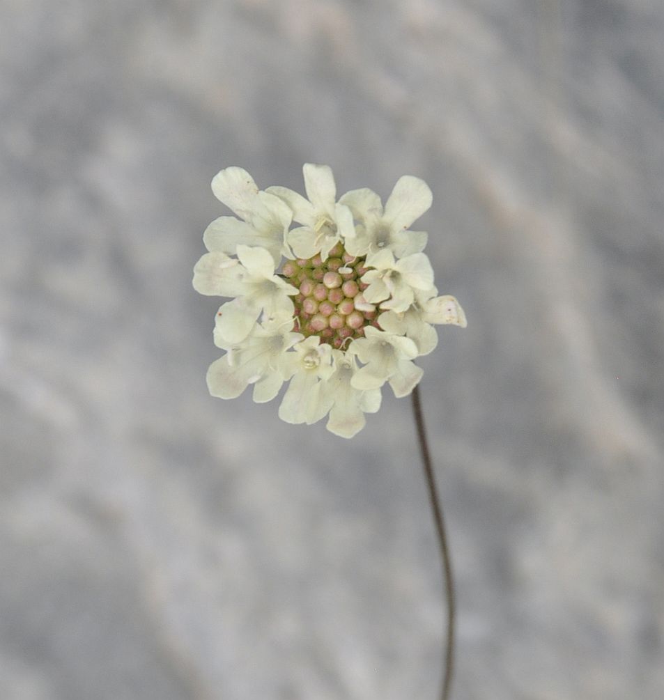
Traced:
<path fill-rule="evenodd" d="M 0 5 L 0 696 L 435 699 L 408 399 L 351 441 L 212 399 L 240 165 L 387 197 L 466 330 L 421 358 L 455 700 L 664 696 L 664 6 Z"/>

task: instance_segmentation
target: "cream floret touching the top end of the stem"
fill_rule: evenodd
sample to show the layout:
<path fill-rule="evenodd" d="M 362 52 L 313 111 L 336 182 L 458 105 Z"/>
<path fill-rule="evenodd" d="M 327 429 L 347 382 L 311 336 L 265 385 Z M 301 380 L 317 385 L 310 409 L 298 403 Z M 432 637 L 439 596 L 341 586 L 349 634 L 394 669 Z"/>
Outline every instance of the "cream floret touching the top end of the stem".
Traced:
<path fill-rule="evenodd" d="M 368 326 L 366 337 L 353 342 L 353 351 L 364 367 L 357 370 L 351 385 L 357 389 L 379 388 L 386 381 L 394 395 L 406 396 L 422 379 L 422 370 L 410 360 L 417 357 L 417 346 L 409 338 Z"/>

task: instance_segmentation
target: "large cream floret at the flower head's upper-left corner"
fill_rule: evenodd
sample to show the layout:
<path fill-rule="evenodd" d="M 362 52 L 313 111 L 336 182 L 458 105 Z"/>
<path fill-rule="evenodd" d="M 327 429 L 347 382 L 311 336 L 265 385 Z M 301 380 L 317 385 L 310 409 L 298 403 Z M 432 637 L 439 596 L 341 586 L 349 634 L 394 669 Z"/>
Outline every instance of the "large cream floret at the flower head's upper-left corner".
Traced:
<path fill-rule="evenodd" d="M 265 248 L 278 265 L 290 256 L 286 234 L 293 218 L 289 207 L 275 195 L 260 192 L 249 173 L 238 167 L 222 170 L 212 180 L 212 192 L 226 207 L 244 219 L 220 216 L 205 229 L 209 251 L 235 254 L 239 244 Z"/>

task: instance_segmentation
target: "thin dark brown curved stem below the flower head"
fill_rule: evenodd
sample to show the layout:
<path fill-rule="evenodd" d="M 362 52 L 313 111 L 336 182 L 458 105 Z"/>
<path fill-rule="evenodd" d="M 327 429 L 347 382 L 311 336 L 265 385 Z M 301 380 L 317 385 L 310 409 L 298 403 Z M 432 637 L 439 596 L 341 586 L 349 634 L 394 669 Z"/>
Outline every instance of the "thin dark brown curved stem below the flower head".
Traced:
<path fill-rule="evenodd" d="M 443 579 L 445 580 L 445 592 L 448 612 L 448 627 L 447 640 L 445 644 L 445 665 L 443 673 L 443 687 L 441 689 L 441 700 L 448 700 L 450 696 L 450 687 L 452 685 L 452 672 L 454 671 L 454 652 L 455 652 L 455 594 L 454 580 L 452 579 L 452 562 L 450 561 L 450 549 L 448 547 L 448 538 L 445 534 L 445 520 L 443 519 L 443 508 L 438 499 L 436 491 L 436 479 L 434 478 L 434 469 L 431 466 L 431 456 L 429 454 L 429 445 L 427 444 L 427 431 L 424 429 L 424 416 L 422 415 L 422 405 L 420 403 L 420 387 L 415 386 L 413 389 L 413 414 L 415 416 L 415 426 L 417 426 L 417 438 L 420 441 L 420 453 L 422 454 L 422 463 L 424 464 L 424 474 L 427 477 L 427 487 L 429 489 L 429 500 L 431 501 L 431 510 L 434 512 L 434 521 L 436 522 L 436 532 L 438 533 L 438 547 L 441 550 L 441 563 L 443 565 Z"/>

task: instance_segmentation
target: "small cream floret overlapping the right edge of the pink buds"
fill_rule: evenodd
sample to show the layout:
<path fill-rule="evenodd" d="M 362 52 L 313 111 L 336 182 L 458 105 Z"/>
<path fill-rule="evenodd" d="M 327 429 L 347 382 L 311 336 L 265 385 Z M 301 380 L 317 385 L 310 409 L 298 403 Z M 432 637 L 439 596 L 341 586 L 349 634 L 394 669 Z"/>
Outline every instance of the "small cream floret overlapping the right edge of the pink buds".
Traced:
<path fill-rule="evenodd" d="M 364 298 L 381 309 L 406 311 L 415 300 L 415 290 L 429 289 L 434 283 L 434 270 L 424 253 L 413 253 L 394 260 L 391 250 L 368 255 L 366 265 L 373 267 L 363 277 L 368 284 Z"/>

